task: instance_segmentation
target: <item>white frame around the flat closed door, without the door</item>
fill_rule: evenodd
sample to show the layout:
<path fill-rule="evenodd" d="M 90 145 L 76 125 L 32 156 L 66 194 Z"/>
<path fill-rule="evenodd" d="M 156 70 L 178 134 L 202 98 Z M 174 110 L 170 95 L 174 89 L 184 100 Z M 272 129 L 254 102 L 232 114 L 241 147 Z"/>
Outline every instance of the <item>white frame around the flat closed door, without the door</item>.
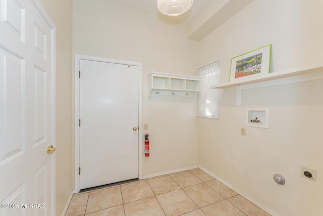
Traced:
<path fill-rule="evenodd" d="M 125 64 L 138 66 L 138 179 L 142 179 L 142 67 L 141 62 L 132 62 L 118 59 L 101 58 L 95 56 L 85 56 L 75 54 L 74 58 L 74 193 L 80 192 L 80 127 L 79 127 L 79 116 L 80 116 L 80 82 L 79 82 L 79 71 L 80 61 L 90 60 L 106 63 Z M 81 74 L 82 76 L 82 74 Z"/>

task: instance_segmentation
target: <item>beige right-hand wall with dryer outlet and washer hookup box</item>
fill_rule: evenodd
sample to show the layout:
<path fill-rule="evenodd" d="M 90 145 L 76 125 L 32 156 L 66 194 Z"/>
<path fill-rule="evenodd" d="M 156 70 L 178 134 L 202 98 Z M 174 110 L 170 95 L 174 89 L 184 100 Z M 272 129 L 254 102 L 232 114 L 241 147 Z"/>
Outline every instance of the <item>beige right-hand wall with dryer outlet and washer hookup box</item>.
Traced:
<path fill-rule="evenodd" d="M 199 42 L 198 64 L 219 59 L 227 82 L 232 57 L 267 44 L 271 72 L 322 64 L 322 9 L 322 1 L 256 0 Z M 241 107 L 235 92 L 221 92 L 220 119 L 198 118 L 199 165 L 274 215 L 321 215 L 322 94 L 322 79 L 244 90 Z M 268 107 L 270 128 L 246 127 L 246 107 Z M 300 165 L 318 170 L 316 183 L 300 177 Z"/>

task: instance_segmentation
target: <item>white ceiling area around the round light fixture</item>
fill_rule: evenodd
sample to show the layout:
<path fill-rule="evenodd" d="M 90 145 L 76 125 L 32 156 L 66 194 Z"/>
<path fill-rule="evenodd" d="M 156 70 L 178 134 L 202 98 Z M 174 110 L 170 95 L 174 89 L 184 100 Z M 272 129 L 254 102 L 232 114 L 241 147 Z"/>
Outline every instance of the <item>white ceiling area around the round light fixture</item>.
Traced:
<path fill-rule="evenodd" d="M 157 0 L 106 0 L 106 1 L 120 4 L 133 9 L 137 9 L 139 11 L 143 11 L 146 13 L 155 14 L 158 17 L 166 17 L 167 19 L 172 19 L 178 22 L 187 22 L 208 1 L 214 1 L 214 0 L 193 0 L 193 5 L 191 9 L 185 14 L 178 17 L 168 17 L 166 15 L 161 14 L 157 9 Z"/>

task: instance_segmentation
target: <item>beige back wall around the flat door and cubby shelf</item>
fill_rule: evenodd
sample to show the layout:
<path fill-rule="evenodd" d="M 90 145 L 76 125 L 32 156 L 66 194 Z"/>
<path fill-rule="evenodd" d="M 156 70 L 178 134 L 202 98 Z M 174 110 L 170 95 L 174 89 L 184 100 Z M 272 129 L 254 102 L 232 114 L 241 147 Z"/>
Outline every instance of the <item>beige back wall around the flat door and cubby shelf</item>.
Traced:
<path fill-rule="evenodd" d="M 148 98 L 151 71 L 197 75 L 197 42 L 185 38 L 185 25 L 167 23 L 105 0 L 73 1 L 74 54 L 142 63 L 142 122 L 148 131 L 141 136 L 147 133 L 150 140 L 150 157 L 142 160 L 144 177 L 198 162 L 196 100 Z"/>

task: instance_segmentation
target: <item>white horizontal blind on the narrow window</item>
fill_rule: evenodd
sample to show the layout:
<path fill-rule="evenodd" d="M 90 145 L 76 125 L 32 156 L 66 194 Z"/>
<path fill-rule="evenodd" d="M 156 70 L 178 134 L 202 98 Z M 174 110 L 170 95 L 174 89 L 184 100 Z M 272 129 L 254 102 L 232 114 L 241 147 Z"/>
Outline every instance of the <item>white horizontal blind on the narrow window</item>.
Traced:
<path fill-rule="evenodd" d="M 201 92 L 198 94 L 197 116 L 219 118 L 219 91 L 210 89 L 210 85 L 219 83 L 219 61 L 199 67 L 201 77 Z"/>

